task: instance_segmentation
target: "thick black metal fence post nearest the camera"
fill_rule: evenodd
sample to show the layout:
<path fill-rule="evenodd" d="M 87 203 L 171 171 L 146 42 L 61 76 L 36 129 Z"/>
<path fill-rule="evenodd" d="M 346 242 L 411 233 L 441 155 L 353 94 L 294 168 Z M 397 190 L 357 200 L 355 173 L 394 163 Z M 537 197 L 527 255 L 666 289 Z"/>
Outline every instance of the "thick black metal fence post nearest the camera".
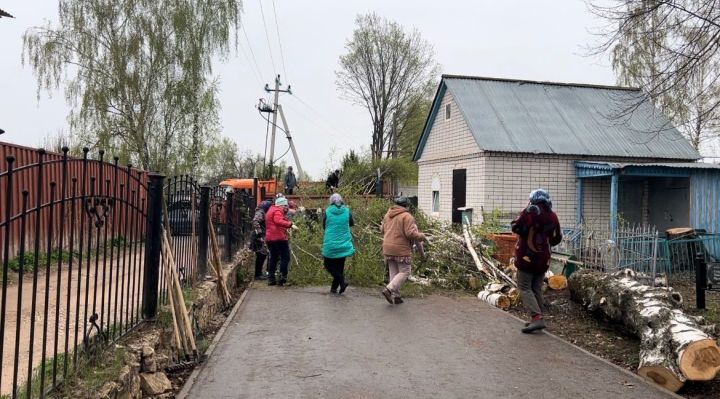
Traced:
<path fill-rule="evenodd" d="M 160 242 L 162 225 L 163 180 L 165 176 L 148 176 L 148 207 L 145 222 L 145 262 L 143 266 L 143 318 L 154 319 L 157 313 L 160 281 Z"/>

